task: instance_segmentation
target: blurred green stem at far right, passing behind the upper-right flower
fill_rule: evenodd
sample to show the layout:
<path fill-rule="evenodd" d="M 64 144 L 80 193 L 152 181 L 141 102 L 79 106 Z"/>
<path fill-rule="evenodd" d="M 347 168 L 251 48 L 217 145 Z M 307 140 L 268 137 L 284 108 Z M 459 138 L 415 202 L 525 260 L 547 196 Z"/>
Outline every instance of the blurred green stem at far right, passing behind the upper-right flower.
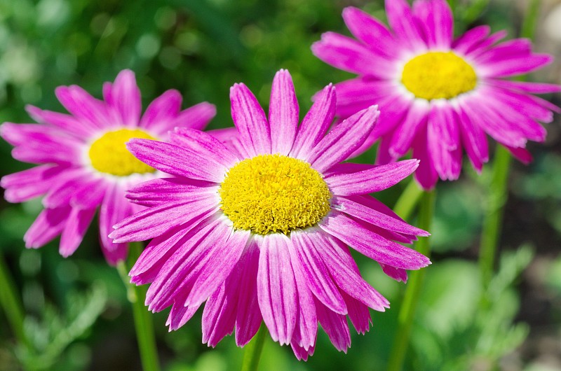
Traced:
<path fill-rule="evenodd" d="M 532 0 L 522 22 L 520 36 L 532 38 L 536 29 L 539 15 L 539 0 Z M 526 80 L 526 76 L 519 76 L 519 81 Z M 479 251 L 479 267 L 483 287 L 489 285 L 493 276 L 496 248 L 503 223 L 504 205 L 508 198 L 508 173 L 511 167 L 511 153 L 502 146 L 497 146 L 493 160 L 491 183 L 487 195 L 487 210 L 483 218 L 481 232 L 481 246 Z"/>

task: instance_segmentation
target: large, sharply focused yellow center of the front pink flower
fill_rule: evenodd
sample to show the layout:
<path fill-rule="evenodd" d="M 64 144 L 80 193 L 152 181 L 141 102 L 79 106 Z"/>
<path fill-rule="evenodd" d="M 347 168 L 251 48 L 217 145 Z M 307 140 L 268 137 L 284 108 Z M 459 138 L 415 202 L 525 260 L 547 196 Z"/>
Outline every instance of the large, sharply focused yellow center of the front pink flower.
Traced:
<path fill-rule="evenodd" d="M 330 211 L 331 193 L 307 162 L 259 155 L 232 167 L 218 191 L 234 228 L 266 235 L 311 227 Z"/>

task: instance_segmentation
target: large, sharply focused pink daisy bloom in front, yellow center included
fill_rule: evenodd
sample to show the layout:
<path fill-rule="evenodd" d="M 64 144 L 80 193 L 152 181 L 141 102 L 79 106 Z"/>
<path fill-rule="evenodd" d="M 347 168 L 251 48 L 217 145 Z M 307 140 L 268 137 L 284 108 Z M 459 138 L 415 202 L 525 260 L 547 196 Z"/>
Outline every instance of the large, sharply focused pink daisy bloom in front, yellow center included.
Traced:
<path fill-rule="evenodd" d="M 235 149 L 184 128 L 170 134 L 170 143 L 128 143 L 142 162 L 176 177 L 130 190 L 130 200 L 148 209 L 116 225 L 110 237 L 117 243 L 152 239 L 130 276 L 139 285 L 151 283 L 150 310 L 172 306 L 170 330 L 206 301 L 203 342 L 211 346 L 234 328 L 243 346 L 264 321 L 275 341 L 307 359 L 319 321 L 334 346 L 346 351 L 346 316 L 365 332 L 368 308 L 388 307 L 360 276 L 347 245 L 401 281 L 405 269 L 429 264 L 395 242 L 428 233 L 368 195 L 393 186 L 418 162 L 341 163 L 363 144 L 379 111 L 369 107 L 327 132 L 332 85 L 301 125 L 288 71 L 273 80 L 268 120 L 245 85 L 234 85 L 230 97 Z"/>

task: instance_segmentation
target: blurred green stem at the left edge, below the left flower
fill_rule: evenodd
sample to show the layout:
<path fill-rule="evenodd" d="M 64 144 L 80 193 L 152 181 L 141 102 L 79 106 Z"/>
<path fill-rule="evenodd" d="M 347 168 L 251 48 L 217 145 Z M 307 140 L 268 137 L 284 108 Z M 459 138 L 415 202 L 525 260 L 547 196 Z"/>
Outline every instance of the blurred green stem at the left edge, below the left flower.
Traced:
<path fill-rule="evenodd" d="M 25 317 L 20 297 L 16 294 L 15 283 L 10 275 L 4 256 L 0 254 L 0 304 L 6 312 L 6 318 L 20 344 L 29 346 L 29 339 L 23 330 Z"/>

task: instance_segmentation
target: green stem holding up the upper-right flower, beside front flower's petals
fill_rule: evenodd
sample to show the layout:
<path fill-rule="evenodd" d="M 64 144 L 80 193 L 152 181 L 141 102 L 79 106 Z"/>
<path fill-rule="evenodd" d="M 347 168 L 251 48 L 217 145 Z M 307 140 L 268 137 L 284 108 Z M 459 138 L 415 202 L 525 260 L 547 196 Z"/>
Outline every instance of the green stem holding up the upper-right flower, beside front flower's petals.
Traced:
<path fill-rule="evenodd" d="M 423 193 L 419 205 L 419 228 L 423 230 L 431 229 L 434 202 L 435 191 Z M 419 241 L 417 241 L 416 244 L 417 251 L 427 257 L 431 254 L 429 238 L 430 237 L 419 237 Z M 425 269 L 410 272 L 407 288 L 405 289 L 405 296 L 403 297 L 403 302 L 398 314 L 398 330 L 393 339 L 393 346 L 387 367 L 388 371 L 399 371 L 401 367 L 403 367 L 403 360 L 405 359 L 405 353 L 407 353 L 407 347 L 410 342 L 411 328 L 413 326 L 414 314 L 423 286 L 424 275 Z"/>

